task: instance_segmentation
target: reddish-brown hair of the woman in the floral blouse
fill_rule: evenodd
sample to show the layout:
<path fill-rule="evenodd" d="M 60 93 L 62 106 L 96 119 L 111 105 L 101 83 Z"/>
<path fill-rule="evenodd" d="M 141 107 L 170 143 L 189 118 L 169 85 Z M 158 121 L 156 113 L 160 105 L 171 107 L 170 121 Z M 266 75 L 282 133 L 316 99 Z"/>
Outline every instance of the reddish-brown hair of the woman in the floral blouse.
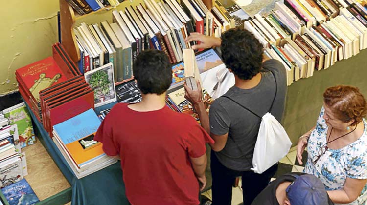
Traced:
<path fill-rule="evenodd" d="M 352 126 L 362 122 L 362 118 L 367 114 L 366 99 L 357 87 L 329 87 L 323 93 L 323 99 L 339 120 L 345 123 L 355 120 Z"/>

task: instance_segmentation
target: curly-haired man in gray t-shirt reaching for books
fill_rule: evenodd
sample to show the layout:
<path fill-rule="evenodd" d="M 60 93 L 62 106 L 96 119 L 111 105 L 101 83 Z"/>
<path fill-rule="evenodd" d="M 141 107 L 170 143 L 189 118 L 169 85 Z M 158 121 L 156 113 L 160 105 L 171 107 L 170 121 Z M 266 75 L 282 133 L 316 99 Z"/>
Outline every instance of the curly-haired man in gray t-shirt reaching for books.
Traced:
<path fill-rule="evenodd" d="M 193 91 L 184 85 L 185 97 L 215 141 L 210 144 L 213 205 L 230 205 L 232 184 L 238 176 L 242 177 L 244 205 L 250 205 L 275 174 L 277 164 L 262 174 L 250 170 L 261 119 L 235 102 L 258 116 L 271 112 L 281 122 L 287 92 L 286 70 L 281 62 L 263 55 L 262 44 L 242 28 L 229 29 L 221 39 L 192 33 L 186 41 L 201 42 L 193 49 L 221 46 L 222 59 L 235 77 L 235 85 L 223 95 L 226 97 L 213 102 L 209 115 L 200 89 Z M 199 82 L 198 87 L 201 88 Z"/>

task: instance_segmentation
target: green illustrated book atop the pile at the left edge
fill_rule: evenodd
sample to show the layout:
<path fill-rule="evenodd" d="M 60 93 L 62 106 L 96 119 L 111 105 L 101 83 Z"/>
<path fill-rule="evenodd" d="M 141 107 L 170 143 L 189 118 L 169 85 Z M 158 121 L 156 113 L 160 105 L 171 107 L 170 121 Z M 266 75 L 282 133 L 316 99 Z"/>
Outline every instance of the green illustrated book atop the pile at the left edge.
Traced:
<path fill-rule="evenodd" d="M 5 118 L 9 119 L 11 125 L 17 124 L 21 148 L 36 142 L 32 120 L 24 102 L 3 110 L 3 113 Z"/>

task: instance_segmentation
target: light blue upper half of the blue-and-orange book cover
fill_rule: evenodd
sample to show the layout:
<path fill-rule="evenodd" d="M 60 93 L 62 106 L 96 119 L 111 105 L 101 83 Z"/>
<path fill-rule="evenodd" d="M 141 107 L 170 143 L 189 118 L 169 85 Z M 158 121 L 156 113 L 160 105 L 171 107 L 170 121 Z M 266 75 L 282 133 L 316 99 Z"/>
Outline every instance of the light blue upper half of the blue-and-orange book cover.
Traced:
<path fill-rule="evenodd" d="M 91 108 L 67 121 L 58 123 L 53 129 L 59 135 L 62 143 L 69 144 L 97 131 L 101 121 Z"/>

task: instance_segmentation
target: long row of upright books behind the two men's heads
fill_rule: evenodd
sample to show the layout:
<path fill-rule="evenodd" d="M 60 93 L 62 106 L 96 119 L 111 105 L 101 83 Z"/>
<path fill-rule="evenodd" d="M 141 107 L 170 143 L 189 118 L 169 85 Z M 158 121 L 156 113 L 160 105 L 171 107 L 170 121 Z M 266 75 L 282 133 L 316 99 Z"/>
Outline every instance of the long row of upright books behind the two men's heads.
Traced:
<path fill-rule="evenodd" d="M 113 11 L 113 22 L 81 23 L 74 28 L 81 54 L 81 73 L 106 63 L 114 64 L 115 82 L 133 77 L 132 66 L 139 53 L 146 49 L 164 51 L 171 63 L 180 62 L 183 50 L 200 42 L 186 43 L 190 33 L 220 37 L 235 26 L 227 10 L 216 2 L 208 10 L 202 0 L 143 0 L 137 7 Z"/>

